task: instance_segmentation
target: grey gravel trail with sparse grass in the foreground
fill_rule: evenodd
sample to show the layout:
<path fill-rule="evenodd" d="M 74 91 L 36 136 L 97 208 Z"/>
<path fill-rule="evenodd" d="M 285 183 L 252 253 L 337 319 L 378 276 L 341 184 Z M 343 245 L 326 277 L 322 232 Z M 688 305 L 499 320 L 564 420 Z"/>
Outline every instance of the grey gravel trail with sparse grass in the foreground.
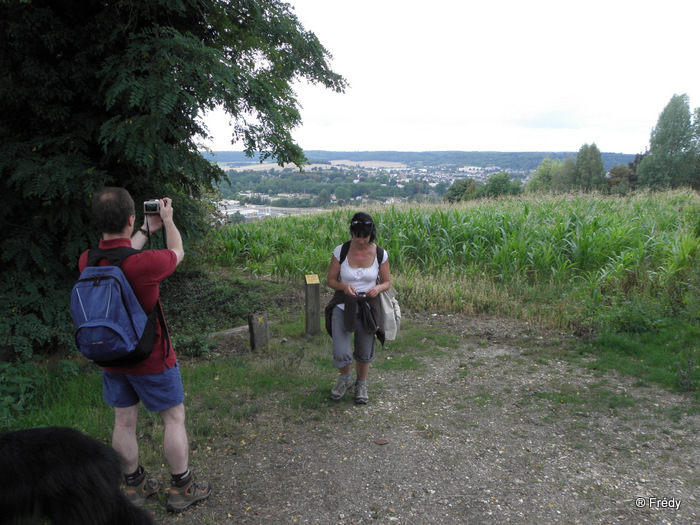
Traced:
<path fill-rule="evenodd" d="M 222 443 L 198 458 L 210 500 L 157 522 L 700 523 L 690 396 L 557 358 L 562 334 L 432 322 L 459 331 L 461 347 L 417 374 L 373 370 L 366 406 L 251 423 L 258 437 L 240 454 Z"/>

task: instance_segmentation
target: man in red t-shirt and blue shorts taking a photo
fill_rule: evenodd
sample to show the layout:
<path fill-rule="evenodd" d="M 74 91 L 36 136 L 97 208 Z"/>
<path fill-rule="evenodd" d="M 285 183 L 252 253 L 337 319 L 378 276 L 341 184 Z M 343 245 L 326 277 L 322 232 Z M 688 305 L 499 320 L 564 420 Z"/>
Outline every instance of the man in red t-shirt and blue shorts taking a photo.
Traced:
<path fill-rule="evenodd" d="M 165 230 L 167 249 L 143 251 L 127 257 L 121 264 L 143 310 L 150 312 L 159 301 L 160 282 L 173 273 L 185 257 L 180 232 L 173 222 L 172 201 L 161 199 L 160 213 L 145 215 L 143 227 L 135 234 L 134 201 L 123 188 L 104 188 L 97 192 L 92 200 L 92 215 L 102 232 L 99 244 L 102 250 L 120 246 L 140 250 L 151 233 L 161 228 Z M 86 251 L 80 256 L 80 271 L 87 265 L 87 260 Z M 102 259 L 99 264 L 109 262 Z M 149 478 L 139 464 L 136 421 L 140 401 L 149 411 L 159 412 L 163 421 L 164 454 L 172 475 L 168 510 L 179 512 L 208 498 L 210 484 L 195 481 L 188 468 L 185 396 L 165 320 L 157 323 L 156 341 L 148 358 L 129 366 L 103 367 L 102 380 L 103 398 L 114 407 L 112 446 L 124 458 L 127 497 L 140 506 L 158 491 L 160 485 L 157 479 Z"/>

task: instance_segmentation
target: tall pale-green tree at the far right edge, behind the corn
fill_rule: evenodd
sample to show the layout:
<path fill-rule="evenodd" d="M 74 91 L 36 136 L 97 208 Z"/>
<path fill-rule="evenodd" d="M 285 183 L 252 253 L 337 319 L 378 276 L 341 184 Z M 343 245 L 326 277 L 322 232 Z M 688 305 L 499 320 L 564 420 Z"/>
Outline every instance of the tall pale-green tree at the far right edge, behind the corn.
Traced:
<path fill-rule="evenodd" d="M 639 184 L 652 189 L 700 187 L 696 143 L 688 95 L 673 95 L 651 132 L 649 152 L 637 169 Z"/>

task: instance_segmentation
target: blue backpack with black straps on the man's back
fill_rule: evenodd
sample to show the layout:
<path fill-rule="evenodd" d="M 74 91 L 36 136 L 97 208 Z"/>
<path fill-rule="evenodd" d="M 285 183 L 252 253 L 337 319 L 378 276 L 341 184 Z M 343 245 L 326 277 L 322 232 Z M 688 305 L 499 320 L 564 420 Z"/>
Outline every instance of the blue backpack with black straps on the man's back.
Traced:
<path fill-rule="evenodd" d="M 100 366 L 132 365 L 153 351 L 157 318 L 162 320 L 160 300 L 146 314 L 119 267 L 124 259 L 139 252 L 128 247 L 94 248 L 73 285 L 75 343 L 85 357 Z M 105 258 L 110 266 L 97 266 Z"/>

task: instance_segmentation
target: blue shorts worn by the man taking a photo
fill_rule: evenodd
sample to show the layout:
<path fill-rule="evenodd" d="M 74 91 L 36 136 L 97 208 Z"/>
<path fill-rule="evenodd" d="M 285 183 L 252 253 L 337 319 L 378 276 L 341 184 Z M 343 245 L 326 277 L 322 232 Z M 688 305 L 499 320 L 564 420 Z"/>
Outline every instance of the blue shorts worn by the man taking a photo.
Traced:
<path fill-rule="evenodd" d="M 165 368 L 159 374 L 144 376 L 102 371 L 102 399 L 116 408 L 143 402 L 151 412 L 167 410 L 185 401 L 180 367 Z"/>

